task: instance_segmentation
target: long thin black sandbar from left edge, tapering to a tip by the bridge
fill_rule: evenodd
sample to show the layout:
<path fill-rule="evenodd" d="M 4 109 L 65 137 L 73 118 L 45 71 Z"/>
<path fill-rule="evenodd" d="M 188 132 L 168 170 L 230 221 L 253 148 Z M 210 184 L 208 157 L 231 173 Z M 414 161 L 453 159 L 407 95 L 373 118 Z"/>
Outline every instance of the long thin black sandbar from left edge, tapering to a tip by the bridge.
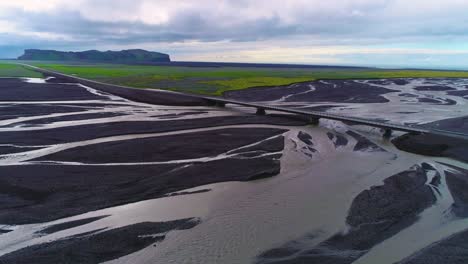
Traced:
<path fill-rule="evenodd" d="M 177 131 L 240 124 L 272 124 L 300 126 L 306 122 L 300 119 L 273 116 L 222 116 L 190 120 L 168 121 L 126 121 L 79 126 L 59 127 L 43 130 L 0 132 L 0 144 L 49 145 L 89 140 L 94 138 Z"/>

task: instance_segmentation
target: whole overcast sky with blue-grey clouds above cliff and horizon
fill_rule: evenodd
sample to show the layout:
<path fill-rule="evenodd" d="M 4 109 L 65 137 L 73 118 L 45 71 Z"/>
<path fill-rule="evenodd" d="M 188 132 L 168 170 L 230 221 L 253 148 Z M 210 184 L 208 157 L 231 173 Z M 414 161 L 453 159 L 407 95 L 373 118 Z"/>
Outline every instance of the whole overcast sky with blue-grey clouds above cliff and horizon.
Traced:
<path fill-rule="evenodd" d="M 468 68 L 467 0 L 0 0 L 0 57 L 143 48 L 173 60 Z"/>

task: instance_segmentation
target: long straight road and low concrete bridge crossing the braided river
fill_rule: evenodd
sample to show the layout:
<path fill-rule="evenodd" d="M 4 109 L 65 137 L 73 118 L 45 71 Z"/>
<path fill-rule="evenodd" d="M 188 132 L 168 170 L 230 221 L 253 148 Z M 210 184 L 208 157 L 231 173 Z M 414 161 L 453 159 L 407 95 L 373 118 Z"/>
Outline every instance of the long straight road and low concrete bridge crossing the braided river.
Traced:
<path fill-rule="evenodd" d="M 366 125 L 371 127 L 377 127 L 382 129 L 383 136 L 386 138 L 390 138 L 392 135 L 392 131 L 401 131 L 413 134 L 432 134 L 437 136 L 443 137 L 450 137 L 450 138 L 458 138 L 463 140 L 468 140 L 468 135 L 458 132 L 452 131 L 444 131 L 438 129 L 430 129 L 430 128 L 423 128 L 421 126 L 408 126 L 408 125 L 398 125 L 398 124 L 391 124 L 391 123 L 384 123 L 374 120 L 368 120 L 364 118 L 346 116 L 341 114 L 332 114 L 326 112 L 318 112 L 318 111 L 306 111 L 306 110 L 299 110 L 293 108 L 286 108 L 286 107 L 279 107 L 279 106 L 270 106 L 264 105 L 260 103 L 249 103 L 249 102 L 242 102 L 236 100 L 229 100 L 221 97 L 210 97 L 210 96 L 201 96 L 201 95 L 192 95 L 192 94 L 185 94 L 179 92 L 172 92 L 172 91 L 164 91 L 164 90 L 155 90 L 155 89 L 140 89 L 140 88 L 131 88 L 121 85 L 113 85 L 102 83 L 98 81 L 92 81 L 84 78 L 80 78 L 77 76 L 67 75 L 55 71 L 41 69 L 32 65 L 18 63 L 24 67 L 29 69 L 44 73 L 46 75 L 60 77 L 69 79 L 78 83 L 82 83 L 84 85 L 93 87 L 95 89 L 112 93 L 123 98 L 139 101 L 149 104 L 162 104 L 171 101 L 172 105 L 212 105 L 218 107 L 225 107 L 227 104 L 233 105 L 240 105 L 245 107 L 252 107 L 256 109 L 257 115 L 265 115 L 266 111 L 275 111 L 275 112 L 283 112 L 289 114 L 296 114 L 300 116 L 305 116 L 309 119 L 310 124 L 318 125 L 320 119 L 330 119 L 336 121 L 344 121 L 347 123 L 357 124 L 357 125 Z M 148 93 L 150 91 L 151 93 Z"/>

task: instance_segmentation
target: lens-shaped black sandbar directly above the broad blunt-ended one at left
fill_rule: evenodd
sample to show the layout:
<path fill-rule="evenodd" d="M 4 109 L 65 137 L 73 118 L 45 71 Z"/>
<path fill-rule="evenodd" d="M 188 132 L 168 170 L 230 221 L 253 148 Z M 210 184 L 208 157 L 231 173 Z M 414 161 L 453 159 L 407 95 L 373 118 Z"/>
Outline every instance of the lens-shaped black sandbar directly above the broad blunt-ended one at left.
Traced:
<path fill-rule="evenodd" d="M 76 147 L 35 160 L 128 163 L 196 159 L 217 156 L 227 150 L 250 145 L 262 138 L 276 136 L 286 131 L 271 128 L 229 128 L 173 136 L 139 138 Z M 283 140 L 280 137 L 280 142 L 272 144 L 269 150 L 271 152 L 283 150 L 281 143 Z M 128 151 L 130 149 L 132 151 Z M 251 149 L 256 150 L 256 146 Z"/>

